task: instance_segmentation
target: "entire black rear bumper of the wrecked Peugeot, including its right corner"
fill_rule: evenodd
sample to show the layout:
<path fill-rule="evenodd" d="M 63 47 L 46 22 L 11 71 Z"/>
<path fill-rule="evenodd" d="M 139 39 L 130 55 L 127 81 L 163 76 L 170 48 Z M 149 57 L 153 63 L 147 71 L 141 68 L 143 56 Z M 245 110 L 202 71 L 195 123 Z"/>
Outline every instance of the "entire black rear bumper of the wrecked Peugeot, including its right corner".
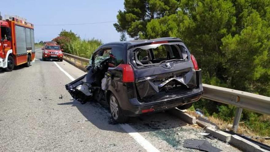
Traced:
<path fill-rule="evenodd" d="M 138 116 L 143 114 L 142 110 L 151 109 L 150 111 L 152 112 L 158 112 L 185 105 L 187 103 L 196 102 L 203 94 L 201 70 L 196 71 L 196 87 L 194 89 L 186 92 L 179 90 L 177 92 L 179 93 L 175 93 L 174 95 L 170 95 L 168 97 L 164 96 L 160 98 L 160 100 L 152 99 L 148 102 L 138 100 L 137 96 L 128 98 L 128 95 L 125 95 L 125 93 L 118 96 L 118 99 L 120 100 L 120 106 L 124 115 L 127 116 Z"/>

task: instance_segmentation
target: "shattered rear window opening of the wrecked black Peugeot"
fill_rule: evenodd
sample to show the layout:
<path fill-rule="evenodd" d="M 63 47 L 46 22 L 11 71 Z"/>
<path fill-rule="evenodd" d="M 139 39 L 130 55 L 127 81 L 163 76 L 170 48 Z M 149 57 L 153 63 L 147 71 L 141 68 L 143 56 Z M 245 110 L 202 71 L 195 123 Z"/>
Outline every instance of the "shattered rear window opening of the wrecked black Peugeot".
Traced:
<path fill-rule="evenodd" d="M 147 45 L 134 50 L 137 65 L 161 64 L 166 61 L 186 61 L 187 50 L 183 45 Z"/>

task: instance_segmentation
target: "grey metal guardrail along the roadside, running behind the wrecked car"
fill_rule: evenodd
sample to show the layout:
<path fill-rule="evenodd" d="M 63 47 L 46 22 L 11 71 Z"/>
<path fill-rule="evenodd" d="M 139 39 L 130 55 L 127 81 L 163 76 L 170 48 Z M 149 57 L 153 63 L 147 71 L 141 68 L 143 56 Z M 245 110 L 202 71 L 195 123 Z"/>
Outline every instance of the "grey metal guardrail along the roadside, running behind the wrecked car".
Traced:
<path fill-rule="evenodd" d="M 84 71 L 86 71 L 85 63 L 89 64 L 89 59 L 68 53 L 64 53 L 64 60 L 67 60 Z M 233 121 L 233 130 L 235 132 L 237 131 L 243 108 L 261 114 L 270 115 L 270 97 L 203 84 L 203 98 L 237 107 Z"/>

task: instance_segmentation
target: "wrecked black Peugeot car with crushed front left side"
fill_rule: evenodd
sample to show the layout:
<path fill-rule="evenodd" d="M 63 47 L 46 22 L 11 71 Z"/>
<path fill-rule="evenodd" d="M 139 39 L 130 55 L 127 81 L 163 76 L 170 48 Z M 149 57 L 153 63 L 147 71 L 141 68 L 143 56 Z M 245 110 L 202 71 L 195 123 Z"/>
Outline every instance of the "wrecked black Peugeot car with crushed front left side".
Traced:
<path fill-rule="evenodd" d="M 66 84 L 81 102 L 104 100 L 112 118 L 187 109 L 203 93 L 201 69 L 179 38 L 114 42 L 100 46 L 87 74 Z"/>

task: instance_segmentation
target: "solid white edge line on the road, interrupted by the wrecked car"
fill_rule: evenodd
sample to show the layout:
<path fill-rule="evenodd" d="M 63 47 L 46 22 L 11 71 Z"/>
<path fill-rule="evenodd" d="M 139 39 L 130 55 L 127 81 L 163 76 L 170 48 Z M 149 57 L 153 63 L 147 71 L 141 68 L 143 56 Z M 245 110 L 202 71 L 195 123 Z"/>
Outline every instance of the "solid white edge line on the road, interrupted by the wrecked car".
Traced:
<path fill-rule="evenodd" d="M 63 68 L 61 68 L 56 62 L 53 62 L 56 66 L 64 72 L 70 80 L 74 81 L 75 79 L 68 74 Z M 107 113 L 107 112 L 106 112 Z M 133 139 L 135 139 L 147 152 L 160 152 L 156 147 L 154 147 L 148 140 L 146 140 L 141 134 L 139 134 L 133 127 L 129 124 L 120 124 L 120 127 L 123 128 Z"/>

